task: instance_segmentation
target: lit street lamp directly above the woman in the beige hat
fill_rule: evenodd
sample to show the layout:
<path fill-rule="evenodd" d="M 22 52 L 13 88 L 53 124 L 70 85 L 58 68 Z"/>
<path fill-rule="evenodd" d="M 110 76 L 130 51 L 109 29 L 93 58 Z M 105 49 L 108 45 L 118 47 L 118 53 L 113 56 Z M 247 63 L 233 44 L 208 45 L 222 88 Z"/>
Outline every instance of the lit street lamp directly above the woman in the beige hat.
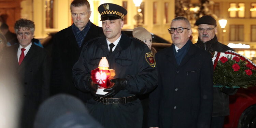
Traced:
<path fill-rule="evenodd" d="M 141 12 L 141 9 L 140 9 L 141 2 L 142 2 L 142 0 L 133 0 L 133 3 L 135 4 L 135 6 L 137 8 L 137 14 L 133 17 L 134 20 L 136 21 L 136 25 L 134 25 L 134 28 L 142 26 L 141 23 L 143 22 L 143 14 L 140 13 Z"/>

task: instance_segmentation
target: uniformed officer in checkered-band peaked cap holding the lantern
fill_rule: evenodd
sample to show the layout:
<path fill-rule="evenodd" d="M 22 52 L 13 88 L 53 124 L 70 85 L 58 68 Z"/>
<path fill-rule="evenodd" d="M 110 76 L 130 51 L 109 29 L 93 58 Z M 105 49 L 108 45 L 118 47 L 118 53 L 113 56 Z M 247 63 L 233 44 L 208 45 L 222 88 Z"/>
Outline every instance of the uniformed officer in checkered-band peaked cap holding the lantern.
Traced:
<path fill-rule="evenodd" d="M 121 31 L 127 11 L 116 4 L 98 8 L 105 37 L 88 42 L 73 67 L 76 88 L 90 91 L 94 98 L 86 104 L 90 114 L 105 128 L 141 128 L 143 110 L 138 94 L 152 91 L 157 84 L 155 60 L 146 44 Z M 106 57 L 109 69 L 115 70 L 114 85 L 96 95 L 98 85 L 91 82 L 91 70 Z"/>

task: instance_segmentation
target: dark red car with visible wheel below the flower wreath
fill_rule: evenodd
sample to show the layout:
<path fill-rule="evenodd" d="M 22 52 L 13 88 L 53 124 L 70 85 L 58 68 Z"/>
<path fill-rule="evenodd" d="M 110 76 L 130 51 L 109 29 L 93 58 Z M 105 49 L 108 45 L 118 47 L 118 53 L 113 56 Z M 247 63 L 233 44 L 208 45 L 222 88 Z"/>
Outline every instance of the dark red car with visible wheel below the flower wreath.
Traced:
<path fill-rule="evenodd" d="M 239 88 L 229 102 L 230 115 L 224 128 L 256 128 L 256 87 Z"/>

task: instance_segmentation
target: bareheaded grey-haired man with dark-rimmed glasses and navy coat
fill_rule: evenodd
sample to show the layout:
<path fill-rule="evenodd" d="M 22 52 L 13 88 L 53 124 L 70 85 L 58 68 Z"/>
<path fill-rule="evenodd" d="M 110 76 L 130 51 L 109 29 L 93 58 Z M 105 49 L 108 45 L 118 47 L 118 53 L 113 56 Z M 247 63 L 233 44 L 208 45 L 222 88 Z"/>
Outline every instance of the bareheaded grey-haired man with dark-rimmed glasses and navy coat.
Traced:
<path fill-rule="evenodd" d="M 158 87 L 150 94 L 148 127 L 209 128 L 213 105 L 211 55 L 192 44 L 189 21 L 172 20 L 173 44 L 156 53 Z"/>

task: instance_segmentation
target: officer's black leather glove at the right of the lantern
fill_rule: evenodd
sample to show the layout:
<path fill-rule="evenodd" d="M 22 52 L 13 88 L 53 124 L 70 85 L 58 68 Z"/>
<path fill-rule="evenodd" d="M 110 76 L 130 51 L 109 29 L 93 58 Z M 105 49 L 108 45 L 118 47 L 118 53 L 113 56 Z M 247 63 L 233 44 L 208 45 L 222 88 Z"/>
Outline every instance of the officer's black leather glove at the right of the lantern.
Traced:
<path fill-rule="evenodd" d="M 113 97 L 115 96 L 120 90 L 124 90 L 127 85 L 126 79 L 112 79 L 110 82 L 114 83 L 111 88 L 106 88 L 104 91 L 108 91 L 109 93 L 105 94 L 103 97 Z"/>

